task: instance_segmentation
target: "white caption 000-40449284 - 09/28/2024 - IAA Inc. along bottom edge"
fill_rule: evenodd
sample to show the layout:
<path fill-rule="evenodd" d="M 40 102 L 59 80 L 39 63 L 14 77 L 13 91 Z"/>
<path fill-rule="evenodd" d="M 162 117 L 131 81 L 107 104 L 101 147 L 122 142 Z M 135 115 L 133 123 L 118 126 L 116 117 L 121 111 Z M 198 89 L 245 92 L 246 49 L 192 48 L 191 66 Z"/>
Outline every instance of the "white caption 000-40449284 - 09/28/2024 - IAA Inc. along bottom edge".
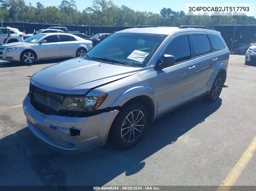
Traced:
<path fill-rule="evenodd" d="M 94 190 L 160 190 L 157 186 L 94 186 Z"/>

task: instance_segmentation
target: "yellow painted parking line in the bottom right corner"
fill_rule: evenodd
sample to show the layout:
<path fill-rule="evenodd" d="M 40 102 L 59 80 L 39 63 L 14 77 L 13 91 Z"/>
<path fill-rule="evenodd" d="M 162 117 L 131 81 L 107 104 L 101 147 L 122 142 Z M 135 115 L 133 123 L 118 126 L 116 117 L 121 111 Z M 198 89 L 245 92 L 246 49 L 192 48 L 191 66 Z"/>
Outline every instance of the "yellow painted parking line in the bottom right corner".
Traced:
<path fill-rule="evenodd" d="M 218 187 L 217 191 L 229 191 L 231 189 L 231 186 L 234 185 L 235 181 L 243 172 L 243 170 L 245 169 L 249 160 L 252 158 L 255 151 L 256 151 L 256 136 L 254 137 L 254 139 L 252 140 L 248 148 L 244 151 L 244 154 L 241 156 L 239 161 L 231 169 L 228 176 Z"/>

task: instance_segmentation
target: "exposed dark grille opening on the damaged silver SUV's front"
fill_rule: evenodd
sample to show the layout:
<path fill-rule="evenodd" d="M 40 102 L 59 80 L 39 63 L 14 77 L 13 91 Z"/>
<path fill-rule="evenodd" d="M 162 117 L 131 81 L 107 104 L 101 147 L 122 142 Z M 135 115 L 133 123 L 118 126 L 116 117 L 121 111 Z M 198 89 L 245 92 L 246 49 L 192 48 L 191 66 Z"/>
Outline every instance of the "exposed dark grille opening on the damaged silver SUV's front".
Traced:
<path fill-rule="evenodd" d="M 30 102 L 38 111 L 52 115 L 61 110 L 65 96 L 51 91 L 46 91 L 30 84 Z"/>

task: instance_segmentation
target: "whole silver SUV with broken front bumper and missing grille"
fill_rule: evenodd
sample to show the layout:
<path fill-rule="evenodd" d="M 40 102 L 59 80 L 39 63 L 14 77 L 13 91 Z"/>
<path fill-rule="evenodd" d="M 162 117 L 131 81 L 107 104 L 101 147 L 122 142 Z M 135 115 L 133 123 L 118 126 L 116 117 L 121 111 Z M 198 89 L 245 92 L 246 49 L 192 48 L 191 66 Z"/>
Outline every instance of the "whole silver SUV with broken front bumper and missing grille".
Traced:
<path fill-rule="evenodd" d="M 229 50 L 214 28 L 135 27 L 80 58 L 36 71 L 23 101 L 29 129 L 59 151 L 110 140 L 135 146 L 150 122 L 198 97 L 214 102 Z"/>

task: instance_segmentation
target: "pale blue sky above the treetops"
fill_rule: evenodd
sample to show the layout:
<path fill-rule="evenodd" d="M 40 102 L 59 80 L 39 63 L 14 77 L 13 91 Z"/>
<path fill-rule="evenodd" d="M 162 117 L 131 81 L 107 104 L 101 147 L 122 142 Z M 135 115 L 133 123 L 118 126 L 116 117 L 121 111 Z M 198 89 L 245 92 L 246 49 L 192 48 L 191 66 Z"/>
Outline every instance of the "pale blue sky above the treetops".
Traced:
<path fill-rule="evenodd" d="M 36 2 L 39 0 L 25 0 L 26 3 L 31 2 L 32 5 L 36 5 Z M 62 0 L 43 0 L 41 3 L 46 6 L 58 6 L 61 4 Z M 189 0 L 184 1 L 168 1 L 168 0 L 128 0 L 128 1 L 121 1 L 121 0 L 112 0 L 116 5 L 121 7 L 122 5 L 126 5 L 133 10 L 138 11 L 151 11 L 153 13 L 159 13 L 162 8 L 171 8 L 173 11 L 185 11 L 185 3 L 192 3 Z M 195 3 L 242 3 L 241 0 L 214 0 L 214 1 L 207 1 L 207 0 L 196 0 Z M 254 3 L 255 0 L 247 0 L 244 3 Z M 86 7 L 91 7 L 92 0 L 76 0 L 76 5 L 80 11 L 85 9 Z M 254 8 L 254 17 L 256 17 L 256 7 Z"/>

